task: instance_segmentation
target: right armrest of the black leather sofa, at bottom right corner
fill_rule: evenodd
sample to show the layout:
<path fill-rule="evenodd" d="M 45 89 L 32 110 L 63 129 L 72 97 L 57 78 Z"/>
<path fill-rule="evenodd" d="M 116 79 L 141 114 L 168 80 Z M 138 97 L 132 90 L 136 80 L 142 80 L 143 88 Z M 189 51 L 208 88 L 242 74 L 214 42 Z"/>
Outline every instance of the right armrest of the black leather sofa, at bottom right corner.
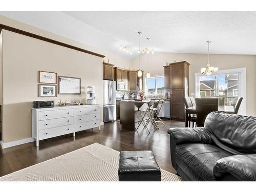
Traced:
<path fill-rule="evenodd" d="M 241 181 L 256 181 L 256 154 L 233 155 L 219 159 L 214 166 L 214 175 L 231 174 Z"/>

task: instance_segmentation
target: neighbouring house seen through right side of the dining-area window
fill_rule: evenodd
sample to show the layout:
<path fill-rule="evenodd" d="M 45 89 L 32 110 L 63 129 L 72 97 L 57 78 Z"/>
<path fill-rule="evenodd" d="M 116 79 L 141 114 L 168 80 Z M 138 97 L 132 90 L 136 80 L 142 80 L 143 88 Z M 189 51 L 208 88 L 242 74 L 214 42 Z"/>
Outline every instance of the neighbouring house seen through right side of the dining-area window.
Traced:
<path fill-rule="evenodd" d="M 238 96 L 238 74 L 231 74 L 225 76 L 227 84 L 227 90 L 225 92 L 226 97 L 237 97 Z"/>

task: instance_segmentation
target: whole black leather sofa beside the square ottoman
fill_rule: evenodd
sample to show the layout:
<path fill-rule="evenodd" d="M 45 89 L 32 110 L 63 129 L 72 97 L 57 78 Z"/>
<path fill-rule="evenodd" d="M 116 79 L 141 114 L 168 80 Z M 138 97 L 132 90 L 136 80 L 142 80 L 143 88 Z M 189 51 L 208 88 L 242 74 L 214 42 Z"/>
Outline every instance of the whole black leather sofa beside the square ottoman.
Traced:
<path fill-rule="evenodd" d="M 204 127 L 170 128 L 172 165 L 185 181 L 256 181 L 256 118 L 211 112 Z"/>

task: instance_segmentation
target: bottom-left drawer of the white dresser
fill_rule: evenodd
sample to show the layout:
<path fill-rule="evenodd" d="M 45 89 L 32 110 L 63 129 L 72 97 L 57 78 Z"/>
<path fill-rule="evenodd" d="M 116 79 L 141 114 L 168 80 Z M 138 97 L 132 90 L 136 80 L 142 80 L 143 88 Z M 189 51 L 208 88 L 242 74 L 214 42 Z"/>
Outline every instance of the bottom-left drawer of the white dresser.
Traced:
<path fill-rule="evenodd" d="M 39 130 L 39 140 L 65 135 L 74 132 L 74 125 L 54 127 L 46 130 Z"/>

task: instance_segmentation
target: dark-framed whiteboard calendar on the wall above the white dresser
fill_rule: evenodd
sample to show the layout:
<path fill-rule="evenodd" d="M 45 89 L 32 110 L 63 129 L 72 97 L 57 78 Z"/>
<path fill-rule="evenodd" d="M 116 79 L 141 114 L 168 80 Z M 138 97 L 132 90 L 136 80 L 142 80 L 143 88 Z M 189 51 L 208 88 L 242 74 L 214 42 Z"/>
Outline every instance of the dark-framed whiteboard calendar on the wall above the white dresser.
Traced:
<path fill-rule="evenodd" d="M 80 95 L 81 78 L 58 76 L 58 93 L 63 95 Z"/>

